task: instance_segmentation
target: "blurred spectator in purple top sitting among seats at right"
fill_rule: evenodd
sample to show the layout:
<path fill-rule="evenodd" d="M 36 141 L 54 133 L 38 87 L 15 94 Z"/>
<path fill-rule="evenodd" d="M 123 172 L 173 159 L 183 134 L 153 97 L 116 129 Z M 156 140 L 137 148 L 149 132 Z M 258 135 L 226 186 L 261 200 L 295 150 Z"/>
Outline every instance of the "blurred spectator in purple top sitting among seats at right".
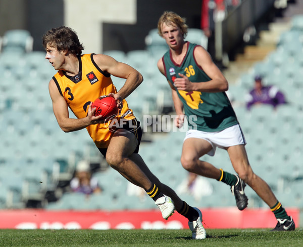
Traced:
<path fill-rule="evenodd" d="M 246 95 L 246 108 L 250 110 L 252 105 L 270 104 L 274 108 L 279 104 L 285 104 L 285 97 L 276 86 L 264 86 L 262 76 L 256 75 L 255 87 Z"/>

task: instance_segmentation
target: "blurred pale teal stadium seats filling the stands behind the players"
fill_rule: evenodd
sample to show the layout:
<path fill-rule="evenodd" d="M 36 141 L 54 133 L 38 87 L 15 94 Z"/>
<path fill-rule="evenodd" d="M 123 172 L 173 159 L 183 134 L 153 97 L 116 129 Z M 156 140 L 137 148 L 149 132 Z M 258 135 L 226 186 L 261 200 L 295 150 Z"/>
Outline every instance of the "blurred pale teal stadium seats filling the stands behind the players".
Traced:
<path fill-rule="evenodd" d="M 247 140 L 246 150 L 252 169 L 270 184 L 283 204 L 303 208 L 298 189 L 303 181 L 301 20 L 301 16 L 293 18 L 291 30 L 281 35 L 277 49 L 239 76 L 238 83 L 230 85 L 228 93 Z M 200 32 L 189 31 L 187 39 L 190 42 L 205 42 Z M 24 208 L 29 200 L 40 201 L 47 210 L 154 209 L 156 206 L 148 197 L 125 196 L 128 182 L 115 170 L 97 166 L 105 161 L 85 130 L 63 133 L 59 128 L 47 89 L 48 81 L 56 71 L 45 61 L 43 52 L 31 52 L 27 39 L 30 40 L 28 34 L 18 45 L 13 42 L 8 45 L 10 43 L 6 41 L 0 54 L 0 209 Z M 156 65 L 167 51 L 167 44 L 157 29 L 150 30 L 145 42 L 145 50 L 127 54 L 104 52 L 142 72 L 143 83 L 126 99 L 141 125 L 144 115 L 159 115 L 161 118 L 166 113 L 174 114 L 171 89 Z M 12 44 L 18 49 L 9 48 Z M 266 83 L 276 84 L 286 94 L 289 104 L 276 110 L 263 105 L 247 111 L 244 94 L 251 87 L 256 73 L 262 74 Z M 112 79 L 118 90 L 125 82 L 117 77 Z M 145 127 L 150 132 L 151 127 Z M 187 175 L 180 163 L 185 133 L 172 130 L 153 133 L 150 142 L 144 142 L 144 135 L 140 146 L 142 158 L 161 181 L 175 189 Z M 62 197 L 58 196 L 58 201 L 47 203 L 45 194 L 64 192 L 73 177 L 75 164 L 83 158 L 97 164 L 93 176 L 104 192 L 90 197 L 63 193 Z M 233 171 L 225 150 L 217 149 L 214 157 L 205 155 L 201 160 Z M 229 187 L 215 180 L 209 181 L 214 187 L 213 195 L 200 201 L 194 201 L 191 196 L 182 198 L 196 207 L 234 207 Z M 265 207 L 248 186 L 246 194 L 248 207 Z"/>

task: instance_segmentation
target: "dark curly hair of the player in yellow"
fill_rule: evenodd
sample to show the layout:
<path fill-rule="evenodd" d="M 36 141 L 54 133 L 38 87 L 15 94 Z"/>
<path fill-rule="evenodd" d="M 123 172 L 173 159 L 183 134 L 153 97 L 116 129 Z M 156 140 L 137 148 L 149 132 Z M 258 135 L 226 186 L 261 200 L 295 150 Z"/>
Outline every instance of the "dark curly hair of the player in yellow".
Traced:
<path fill-rule="evenodd" d="M 75 55 L 81 55 L 84 47 L 79 42 L 79 38 L 76 32 L 70 27 L 61 26 L 48 30 L 42 36 L 42 45 L 46 49 L 46 46 L 54 47 L 58 51 L 69 51 Z"/>

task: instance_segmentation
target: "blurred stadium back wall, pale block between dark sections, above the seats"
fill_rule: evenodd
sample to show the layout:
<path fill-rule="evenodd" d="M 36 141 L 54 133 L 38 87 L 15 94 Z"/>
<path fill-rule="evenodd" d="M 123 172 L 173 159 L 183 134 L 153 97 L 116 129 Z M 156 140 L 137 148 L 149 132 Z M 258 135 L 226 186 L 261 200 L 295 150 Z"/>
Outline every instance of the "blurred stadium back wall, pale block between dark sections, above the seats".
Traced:
<path fill-rule="evenodd" d="M 10 29 L 29 30 L 33 50 L 43 51 L 43 33 L 66 25 L 75 29 L 85 53 L 141 50 L 165 10 L 185 17 L 191 28 L 200 27 L 201 0 L 1 0 L 0 36 Z"/>

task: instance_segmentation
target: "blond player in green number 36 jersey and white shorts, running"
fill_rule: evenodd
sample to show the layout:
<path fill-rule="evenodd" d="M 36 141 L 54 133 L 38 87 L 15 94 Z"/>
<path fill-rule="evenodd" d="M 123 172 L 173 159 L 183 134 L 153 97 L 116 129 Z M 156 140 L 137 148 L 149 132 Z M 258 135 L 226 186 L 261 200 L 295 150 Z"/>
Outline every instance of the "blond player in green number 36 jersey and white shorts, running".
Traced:
<path fill-rule="evenodd" d="M 275 231 L 294 230 L 295 225 L 268 184 L 252 171 L 245 151 L 246 141 L 236 114 L 225 94 L 228 82 L 201 46 L 184 40 L 187 34 L 185 19 L 173 12 L 164 12 L 158 30 L 169 51 L 158 61 L 160 72 L 172 89 L 175 110 L 180 128 L 184 116 L 188 123 L 181 163 L 184 169 L 231 186 L 239 210 L 247 207 L 245 183 L 269 205 L 278 223 Z M 183 113 L 184 109 L 184 113 Z M 238 175 L 217 169 L 211 163 L 199 160 L 205 154 L 213 156 L 216 148 L 227 150 L 232 166 Z M 244 182 L 245 183 L 244 183 Z"/>

